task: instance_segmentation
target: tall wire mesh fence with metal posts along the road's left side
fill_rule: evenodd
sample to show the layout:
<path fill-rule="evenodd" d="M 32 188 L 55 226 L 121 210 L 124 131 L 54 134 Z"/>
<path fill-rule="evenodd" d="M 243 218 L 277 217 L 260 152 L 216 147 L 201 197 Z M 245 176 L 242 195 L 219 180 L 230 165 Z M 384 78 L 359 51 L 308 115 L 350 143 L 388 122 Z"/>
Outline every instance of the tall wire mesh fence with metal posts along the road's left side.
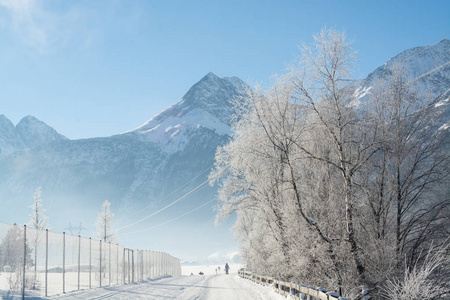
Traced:
<path fill-rule="evenodd" d="M 80 236 L 0 222 L 0 297 L 74 290 L 180 276 L 178 258 Z"/>

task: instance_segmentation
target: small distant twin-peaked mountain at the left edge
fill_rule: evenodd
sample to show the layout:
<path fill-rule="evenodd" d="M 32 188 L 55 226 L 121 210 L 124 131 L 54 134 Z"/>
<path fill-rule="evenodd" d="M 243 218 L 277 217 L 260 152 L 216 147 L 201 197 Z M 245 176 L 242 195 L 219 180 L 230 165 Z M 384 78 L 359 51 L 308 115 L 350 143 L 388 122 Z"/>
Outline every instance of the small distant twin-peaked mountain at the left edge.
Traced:
<path fill-rule="evenodd" d="M 33 116 L 26 116 L 14 126 L 4 115 L 0 115 L 0 158 L 15 151 L 33 148 L 67 138 Z"/>

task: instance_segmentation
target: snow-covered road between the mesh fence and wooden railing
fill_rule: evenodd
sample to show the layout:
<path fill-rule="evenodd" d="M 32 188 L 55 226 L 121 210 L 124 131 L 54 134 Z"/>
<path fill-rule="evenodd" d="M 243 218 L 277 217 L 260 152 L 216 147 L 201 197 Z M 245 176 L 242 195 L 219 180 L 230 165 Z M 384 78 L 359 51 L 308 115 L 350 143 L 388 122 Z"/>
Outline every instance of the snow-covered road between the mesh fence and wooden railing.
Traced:
<path fill-rule="evenodd" d="M 281 300 L 270 287 L 240 278 L 237 274 L 181 276 L 84 290 L 50 299 L 206 299 Z"/>

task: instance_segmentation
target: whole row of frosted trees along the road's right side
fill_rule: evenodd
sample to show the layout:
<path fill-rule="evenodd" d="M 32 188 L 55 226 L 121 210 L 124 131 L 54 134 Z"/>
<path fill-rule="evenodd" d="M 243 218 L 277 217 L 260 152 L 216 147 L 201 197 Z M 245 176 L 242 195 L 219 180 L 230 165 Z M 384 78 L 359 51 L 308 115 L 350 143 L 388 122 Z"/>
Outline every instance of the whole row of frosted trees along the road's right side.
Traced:
<path fill-rule="evenodd" d="M 233 140 L 210 174 L 220 184 L 217 220 L 237 212 L 254 272 L 401 299 L 434 257 L 417 284 L 448 297 L 449 135 L 435 99 L 399 64 L 360 101 L 345 34 L 314 38 L 288 74 L 235 101 Z M 431 299 L 417 290 L 408 299 Z"/>

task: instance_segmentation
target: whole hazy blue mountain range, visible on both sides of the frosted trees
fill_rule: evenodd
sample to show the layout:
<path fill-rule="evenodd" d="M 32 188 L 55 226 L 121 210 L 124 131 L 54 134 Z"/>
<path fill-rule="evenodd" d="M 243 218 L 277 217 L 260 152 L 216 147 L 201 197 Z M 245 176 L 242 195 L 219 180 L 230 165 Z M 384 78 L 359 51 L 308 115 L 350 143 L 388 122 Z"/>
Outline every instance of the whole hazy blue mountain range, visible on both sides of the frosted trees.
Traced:
<path fill-rule="evenodd" d="M 371 73 L 360 92 L 377 78 L 389 76 L 395 61 L 403 61 L 411 78 L 428 87 L 447 130 L 450 41 L 400 53 Z M 173 106 L 142 126 L 111 137 L 68 140 L 34 117 L 14 126 L 0 115 L 0 220 L 27 221 L 38 186 L 50 224 L 59 231 L 69 222 L 93 224 L 106 199 L 120 211 L 119 227 L 164 207 L 205 182 L 217 147 L 231 138 L 230 100 L 241 97 L 246 87 L 239 78 L 208 73 Z M 204 184 L 175 210 L 167 210 L 165 219 L 194 209 L 215 194 L 215 188 Z M 211 205 L 196 216 L 190 221 L 212 220 Z"/>

